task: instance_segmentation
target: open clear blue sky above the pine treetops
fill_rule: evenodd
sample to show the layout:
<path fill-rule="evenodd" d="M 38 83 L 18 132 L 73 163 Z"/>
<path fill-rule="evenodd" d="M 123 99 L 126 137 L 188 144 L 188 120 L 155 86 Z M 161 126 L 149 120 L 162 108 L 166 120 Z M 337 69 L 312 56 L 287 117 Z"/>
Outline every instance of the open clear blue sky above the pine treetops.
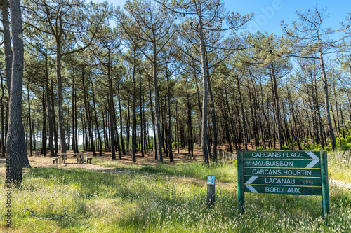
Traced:
<path fill-rule="evenodd" d="M 102 1 L 102 0 L 95 0 Z M 108 0 L 114 6 L 124 6 L 125 0 Z M 351 1 L 346 0 L 246 0 L 246 1 L 225 1 L 227 10 L 239 12 L 244 15 L 254 12 L 254 19 L 249 22 L 247 30 L 255 33 L 256 31 L 268 31 L 277 35 L 282 34 L 280 22 L 284 20 L 291 23 L 296 20 L 296 10 L 306 10 L 307 8 L 326 8 L 329 17 L 325 20 L 325 27 L 337 29 L 340 22 L 345 20 L 351 13 Z"/>

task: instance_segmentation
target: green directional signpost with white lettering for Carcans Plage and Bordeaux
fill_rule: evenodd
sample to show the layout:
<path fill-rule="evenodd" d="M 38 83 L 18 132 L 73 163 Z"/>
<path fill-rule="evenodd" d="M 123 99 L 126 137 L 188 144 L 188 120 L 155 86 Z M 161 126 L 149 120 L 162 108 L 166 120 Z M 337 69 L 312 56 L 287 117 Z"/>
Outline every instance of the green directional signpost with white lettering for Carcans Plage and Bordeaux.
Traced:
<path fill-rule="evenodd" d="M 244 193 L 322 196 L 323 216 L 329 213 L 326 151 L 239 151 L 238 204 Z"/>

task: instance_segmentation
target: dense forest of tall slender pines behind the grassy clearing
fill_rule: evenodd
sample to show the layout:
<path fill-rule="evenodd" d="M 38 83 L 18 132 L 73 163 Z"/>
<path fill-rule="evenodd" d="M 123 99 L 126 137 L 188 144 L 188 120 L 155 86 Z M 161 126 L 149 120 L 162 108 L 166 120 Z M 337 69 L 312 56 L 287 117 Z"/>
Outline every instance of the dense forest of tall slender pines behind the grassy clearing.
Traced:
<path fill-rule="evenodd" d="M 4 156 L 13 26 L 1 6 Z M 350 149 L 350 21 L 329 29 L 326 15 L 298 12 L 277 36 L 245 31 L 253 13 L 228 13 L 220 0 L 23 0 L 28 155 L 131 150 L 135 161 L 152 151 L 162 162 L 197 143 L 208 163 L 218 145 Z"/>

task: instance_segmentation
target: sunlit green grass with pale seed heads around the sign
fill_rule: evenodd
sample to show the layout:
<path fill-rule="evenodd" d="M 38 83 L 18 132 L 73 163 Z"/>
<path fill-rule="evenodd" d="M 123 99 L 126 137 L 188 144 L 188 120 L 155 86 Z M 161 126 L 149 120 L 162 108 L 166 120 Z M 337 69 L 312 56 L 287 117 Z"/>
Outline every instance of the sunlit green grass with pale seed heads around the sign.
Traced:
<path fill-rule="evenodd" d="M 28 169 L 12 190 L 13 227 L 0 232 L 351 232 L 350 189 L 330 185 L 331 215 L 321 197 L 246 194 L 237 211 L 233 162 L 125 165 L 98 160 L 105 169 Z M 331 169 L 332 171 L 332 169 Z M 344 169 L 350 174 L 350 167 Z M 206 177 L 216 176 L 216 204 L 206 206 Z M 332 174 L 329 174 L 332 176 Z M 4 182 L 4 181 L 1 181 Z M 5 214 L 1 190 L 0 214 Z M 29 218 L 35 216 L 55 220 Z"/>

